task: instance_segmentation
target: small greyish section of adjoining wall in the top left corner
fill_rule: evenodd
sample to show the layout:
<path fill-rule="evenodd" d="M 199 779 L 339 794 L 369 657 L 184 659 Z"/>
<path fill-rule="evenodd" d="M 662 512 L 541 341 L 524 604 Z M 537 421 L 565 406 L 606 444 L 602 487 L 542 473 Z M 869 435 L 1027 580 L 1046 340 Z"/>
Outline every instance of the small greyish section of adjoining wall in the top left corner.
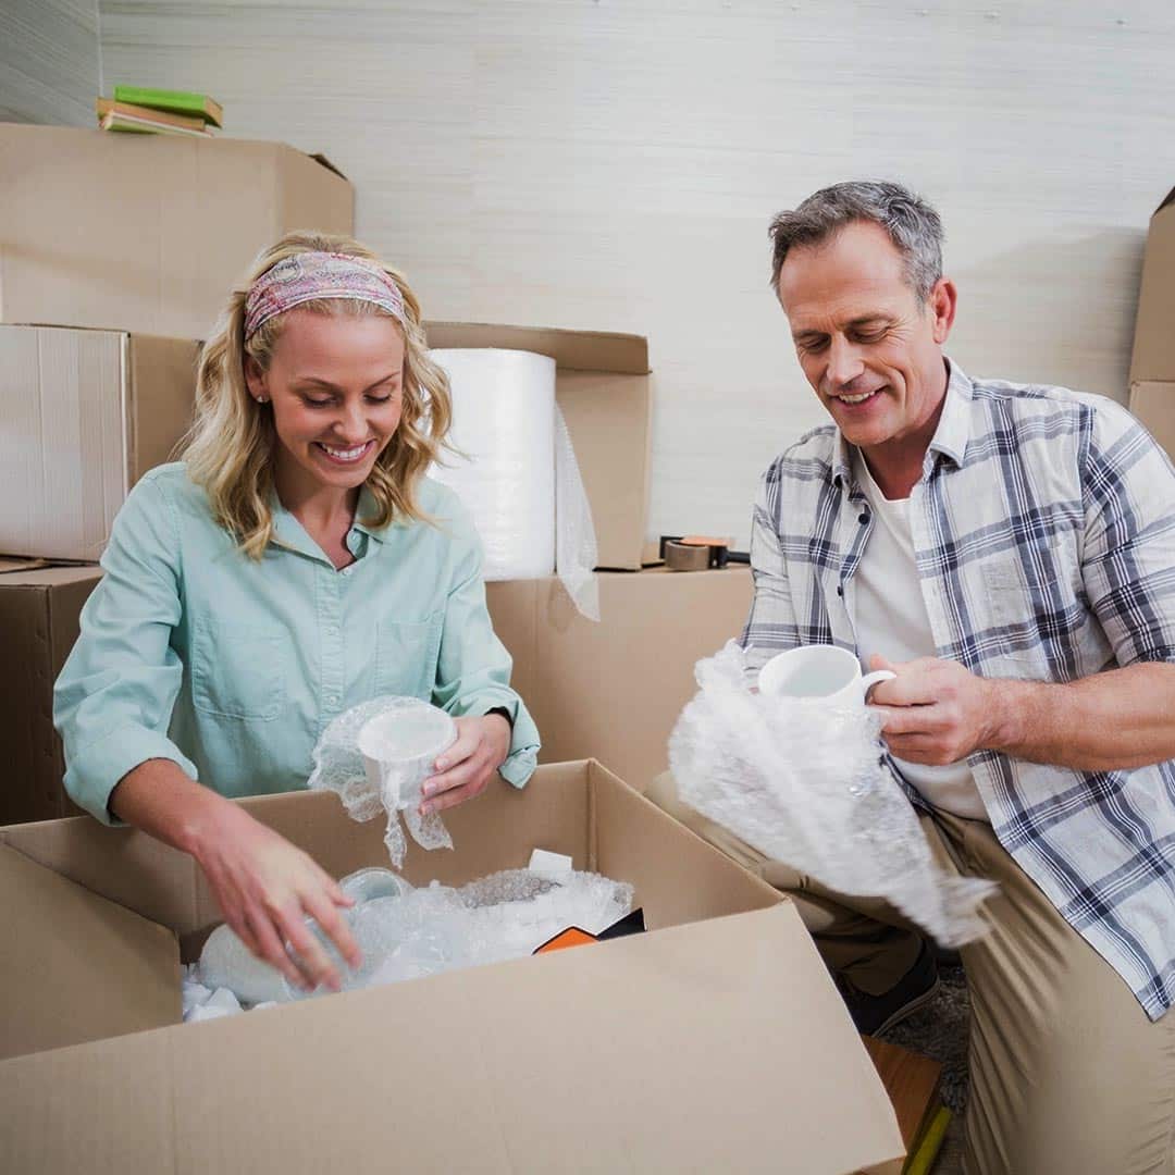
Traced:
<path fill-rule="evenodd" d="M 94 125 L 98 0 L 0 0 L 0 122 Z"/>

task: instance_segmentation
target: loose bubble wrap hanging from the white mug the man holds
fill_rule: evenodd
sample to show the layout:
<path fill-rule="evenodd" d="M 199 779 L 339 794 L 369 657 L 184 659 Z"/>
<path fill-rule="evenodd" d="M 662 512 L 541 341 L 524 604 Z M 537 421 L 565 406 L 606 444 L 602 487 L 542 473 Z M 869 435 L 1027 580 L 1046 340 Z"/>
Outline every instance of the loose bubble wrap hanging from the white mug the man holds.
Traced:
<path fill-rule="evenodd" d="M 734 642 L 694 672 L 669 746 L 684 803 L 830 889 L 887 899 L 944 946 L 983 933 L 996 887 L 934 864 L 868 707 L 752 693 Z"/>

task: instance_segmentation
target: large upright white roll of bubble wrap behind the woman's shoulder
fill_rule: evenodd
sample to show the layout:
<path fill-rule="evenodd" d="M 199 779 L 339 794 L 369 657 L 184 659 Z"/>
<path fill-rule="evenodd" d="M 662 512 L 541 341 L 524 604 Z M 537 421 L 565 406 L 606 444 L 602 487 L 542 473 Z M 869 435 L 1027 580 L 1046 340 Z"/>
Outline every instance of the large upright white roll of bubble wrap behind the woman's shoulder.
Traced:
<path fill-rule="evenodd" d="M 450 442 L 429 476 L 474 517 L 486 580 L 557 572 L 579 611 L 599 619 L 591 504 L 555 398 L 555 360 L 497 348 L 438 349 L 449 376 Z"/>

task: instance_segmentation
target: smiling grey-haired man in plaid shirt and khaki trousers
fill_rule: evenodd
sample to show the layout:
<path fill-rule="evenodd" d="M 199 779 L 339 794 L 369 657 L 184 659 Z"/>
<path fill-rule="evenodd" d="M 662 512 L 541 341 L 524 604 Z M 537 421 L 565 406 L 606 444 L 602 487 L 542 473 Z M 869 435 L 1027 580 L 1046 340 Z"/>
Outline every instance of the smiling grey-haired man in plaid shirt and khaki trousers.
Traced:
<path fill-rule="evenodd" d="M 878 685 L 891 765 L 944 867 L 991 878 L 967 1168 L 1175 1170 L 1175 471 L 1124 409 L 969 378 L 944 355 L 941 224 L 891 183 L 781 213 L 772 284 L 832 417 L 765 474 L 758 669 L 833 643 Z M 861 1030 L 925 1002 L 933 953 L 677 800 L 793 892 Z"/>

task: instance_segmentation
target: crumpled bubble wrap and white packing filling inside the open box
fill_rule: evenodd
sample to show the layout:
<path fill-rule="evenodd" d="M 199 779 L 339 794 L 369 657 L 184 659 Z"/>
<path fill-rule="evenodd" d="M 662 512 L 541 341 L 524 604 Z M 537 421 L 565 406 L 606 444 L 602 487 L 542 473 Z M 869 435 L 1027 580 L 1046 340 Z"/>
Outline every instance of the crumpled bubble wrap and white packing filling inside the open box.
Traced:
<path fill-rule="evenodd" d="M 307 920 L 340 968 L 343 991 L 521 959 L 569 926 L 598 934 L 632 908 L 632 886 L 598 873 L 568 872 L 556 879 L 508 870 L 459 888 L 434 881 L 414 889 L 389 871 L 362 871 L 368 881 L 381 872 L 389 885 L 380 888 L 350 885 L 358 874 L 341 882 L 356 898 L 355 906 L 343 911 L 362 954 L 355 971 L 347 968 L 314 920 Z M 327 992 L 295 991 L 231 929 L 220 926 L 204 944 L 200 962 L 184 968 L 183 1018 L 210 1020 Z"/>

